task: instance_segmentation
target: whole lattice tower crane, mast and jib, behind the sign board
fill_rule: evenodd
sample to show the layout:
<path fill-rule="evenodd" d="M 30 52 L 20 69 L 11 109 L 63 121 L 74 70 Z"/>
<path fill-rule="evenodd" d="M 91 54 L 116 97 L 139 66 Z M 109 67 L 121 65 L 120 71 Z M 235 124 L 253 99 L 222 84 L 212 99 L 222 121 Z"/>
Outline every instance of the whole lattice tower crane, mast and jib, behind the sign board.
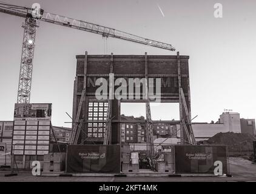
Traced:
<path fill-rule="evenodd" d="M 105 27 L 103 25 L 93 24 L 90 22 L 81 21 L 79 19 L 68 18 L 66 16 L 60 16 L 54 13 L 44 12 L 44 10 L 39 7 L 39 4 L 33 8 L 29 8 L 0 2 L 0 12 L 25 18 L 25 22 L 22 25 L 24 28 L 24 36 L 22 42 L 21 67 L 19 73 L 17 97 L 18 103 L 30 102 L 36 28 L 39 27 L 38 21 L 44 21 L 52 24 L 62 25 L 64 27 L 84 30 L 86 32 L 96 33 L 104 37 L 118 38 L 139 44 L 150 45 L 160 49 L 175 51 L 175 48 L 171 44 L 132 35 L 130 33 L 115 30 L 114 28 Z"/>

